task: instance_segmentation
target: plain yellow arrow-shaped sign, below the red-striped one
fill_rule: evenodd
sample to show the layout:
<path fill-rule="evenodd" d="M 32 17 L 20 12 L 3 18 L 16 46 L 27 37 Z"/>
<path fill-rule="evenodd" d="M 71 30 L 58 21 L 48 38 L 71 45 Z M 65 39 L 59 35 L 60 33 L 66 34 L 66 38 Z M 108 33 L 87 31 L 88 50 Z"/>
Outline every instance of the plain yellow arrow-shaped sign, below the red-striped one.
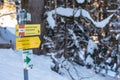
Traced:
<path fill-rule="evenodd" d="M 38 48 L 40 44 L 39 37 L 16 38 L 16 50 Z"/>

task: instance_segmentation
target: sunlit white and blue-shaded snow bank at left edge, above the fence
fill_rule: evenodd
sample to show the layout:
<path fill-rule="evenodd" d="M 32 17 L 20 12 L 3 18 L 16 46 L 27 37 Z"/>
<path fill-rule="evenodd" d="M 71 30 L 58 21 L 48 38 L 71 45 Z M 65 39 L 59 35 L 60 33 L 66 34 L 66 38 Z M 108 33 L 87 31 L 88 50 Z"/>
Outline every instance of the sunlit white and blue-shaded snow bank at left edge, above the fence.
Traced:
<path fill-rule="evenodd" d="M 2 10 L 2 13 L 4 13 L 4 10 Z M 13 45 L 15 45 L 16 24 L 17 24 L 16 17 L 12 18 L 10 15 L 0 17 L 0 35 L 1 35 L 0 37 L 4 39 L 7 43 L 10 43 L 10 41 L 12 41 Z"/>

